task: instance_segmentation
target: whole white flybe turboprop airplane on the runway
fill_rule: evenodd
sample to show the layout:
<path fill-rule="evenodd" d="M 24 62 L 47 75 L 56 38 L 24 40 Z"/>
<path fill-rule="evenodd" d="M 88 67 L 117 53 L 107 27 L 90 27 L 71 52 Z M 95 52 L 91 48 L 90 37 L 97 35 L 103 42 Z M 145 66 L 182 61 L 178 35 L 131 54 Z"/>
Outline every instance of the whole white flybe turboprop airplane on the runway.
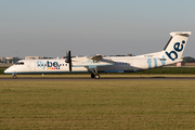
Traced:
<path fill-rule="evenodd" d="M 91 73 L 99 79 L 99 73 L 127 73 L 145 70 L 182 62 L 183 50 L 191 31 L 171 32 L 171 38 L 162 51 L 138 56 L 106 56 L 95 54 L 91 57 L 72 57 L 66 60 L 21 60 L 4 70 L 16 78 L 17 74 L 60 74 Z"/>

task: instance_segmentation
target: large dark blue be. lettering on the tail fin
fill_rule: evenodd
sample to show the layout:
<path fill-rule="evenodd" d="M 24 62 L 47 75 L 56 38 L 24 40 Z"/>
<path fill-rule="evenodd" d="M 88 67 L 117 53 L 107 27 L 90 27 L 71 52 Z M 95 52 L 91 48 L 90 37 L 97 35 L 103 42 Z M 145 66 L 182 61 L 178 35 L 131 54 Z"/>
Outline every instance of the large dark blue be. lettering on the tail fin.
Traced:
<path fill-rule="evenodd" d="M 185 41 L 183 40 L 182 43 L 180 42 L 176 42 L 174 46 L 173 46 L 173 51 L 171 52 L 166 52 L 167 56 L 174 61 L 178 58 L 178 52 L 181 52 L 183 50 L 183 44 L 185 43 Z"/>

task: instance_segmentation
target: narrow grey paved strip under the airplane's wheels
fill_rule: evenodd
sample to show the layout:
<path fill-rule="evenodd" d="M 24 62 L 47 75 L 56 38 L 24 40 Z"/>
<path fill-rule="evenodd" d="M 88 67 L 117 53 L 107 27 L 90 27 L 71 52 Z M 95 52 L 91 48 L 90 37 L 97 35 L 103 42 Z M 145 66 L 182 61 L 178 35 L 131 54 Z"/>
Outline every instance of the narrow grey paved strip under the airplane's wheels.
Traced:
<path fill-rule="evenodd" d="M 36 81 L 36 80 L 52 80 L 52 81 L 69 81 L 69 80 L 195 80 L 195 77 L 151 77 L 151 78 L 100 78 L 100 79 L 91 79 L 91 78 L 0 78 L 0 81 Z"/>

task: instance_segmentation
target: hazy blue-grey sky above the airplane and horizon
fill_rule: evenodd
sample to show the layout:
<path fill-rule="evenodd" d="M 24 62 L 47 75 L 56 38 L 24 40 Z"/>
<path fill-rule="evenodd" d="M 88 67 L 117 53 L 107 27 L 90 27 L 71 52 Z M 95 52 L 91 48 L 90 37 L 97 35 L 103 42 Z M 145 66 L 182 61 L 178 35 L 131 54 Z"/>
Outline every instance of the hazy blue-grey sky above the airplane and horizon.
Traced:
<path fill-rule="evenodd" d="M 0 0 L 1 56 L 133 55 L 161 51 L 171 31 L 192 31 L 194 0 Z"/>

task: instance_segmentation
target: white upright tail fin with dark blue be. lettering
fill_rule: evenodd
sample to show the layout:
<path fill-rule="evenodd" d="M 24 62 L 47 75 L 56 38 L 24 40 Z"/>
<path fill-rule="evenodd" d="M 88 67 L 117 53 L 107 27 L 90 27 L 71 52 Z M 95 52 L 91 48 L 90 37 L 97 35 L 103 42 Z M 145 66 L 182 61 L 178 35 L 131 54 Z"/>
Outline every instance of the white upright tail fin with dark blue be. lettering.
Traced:
<path fill-rule="evenodd" d="M 164 49 L 165 55 L 171 62 L 181 60 L 191 31 L 171 32 L 172 37 Z"/>

